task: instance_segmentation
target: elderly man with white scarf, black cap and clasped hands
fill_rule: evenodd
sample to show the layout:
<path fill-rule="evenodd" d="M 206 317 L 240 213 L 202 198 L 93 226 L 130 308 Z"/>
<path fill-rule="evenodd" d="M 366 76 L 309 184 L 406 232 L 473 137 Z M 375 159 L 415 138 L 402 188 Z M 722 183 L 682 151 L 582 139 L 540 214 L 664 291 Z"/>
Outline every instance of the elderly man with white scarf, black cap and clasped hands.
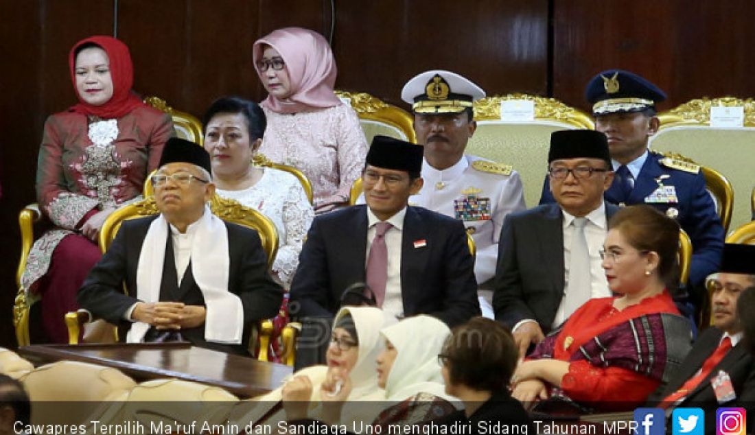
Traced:
<path fill-rule="evenodd" d="M 246 327 L 279 310 L 282 289 L 260 237 L 206 205 L 210 171 L 202 147 L 168 140 L 151 180 L 160 214 L 125 221 L 79 290 L 79 304 L 128 328 L 128 342 L 187 340 L 244 354 Z"/>

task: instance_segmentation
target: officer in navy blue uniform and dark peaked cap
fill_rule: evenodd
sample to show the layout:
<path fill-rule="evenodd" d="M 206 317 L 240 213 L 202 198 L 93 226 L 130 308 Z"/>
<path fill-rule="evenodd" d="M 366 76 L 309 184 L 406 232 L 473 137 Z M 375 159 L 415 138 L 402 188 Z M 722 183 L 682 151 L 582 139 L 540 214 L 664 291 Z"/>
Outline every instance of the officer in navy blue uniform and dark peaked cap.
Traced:
<path fill-rule="evenodd" d="M 659 125 L 655 103 L 666 95 L 632 72 L 610 69 L 590 80 L 585 97 L 593 104 L 596 130 L 608 137 L 616 174 L 606 201 L 653 205 L 679 221 L 692 239 L 689 283 L 700 307 L 704 280 L 720 267 L 724 231 L 698 165 L 648 150 Z M 553 202 L 553 196 L 546 178 L 540 203 L 547 202 Z"/>

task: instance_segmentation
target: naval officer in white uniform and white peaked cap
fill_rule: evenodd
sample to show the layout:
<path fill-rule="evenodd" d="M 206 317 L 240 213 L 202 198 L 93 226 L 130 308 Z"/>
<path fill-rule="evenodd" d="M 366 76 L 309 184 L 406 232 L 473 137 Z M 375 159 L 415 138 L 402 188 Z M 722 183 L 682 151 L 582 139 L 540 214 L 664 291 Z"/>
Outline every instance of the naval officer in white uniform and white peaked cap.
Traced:
<path fill-rule="evenodd" d="M 464 153 L 477 124 L 472 103 L 485 91 L 454 72 L 434 69 L 409 80 L 401 98 L 411 104 L 414 131 L 424 145 L 424 187 L 409 202 L 464 221 L 476 245 L 475 277 L 482 315 L 494 318 L 492 290 L 504 218 L 524 210 L 519 174 L 511 165 Z"/>

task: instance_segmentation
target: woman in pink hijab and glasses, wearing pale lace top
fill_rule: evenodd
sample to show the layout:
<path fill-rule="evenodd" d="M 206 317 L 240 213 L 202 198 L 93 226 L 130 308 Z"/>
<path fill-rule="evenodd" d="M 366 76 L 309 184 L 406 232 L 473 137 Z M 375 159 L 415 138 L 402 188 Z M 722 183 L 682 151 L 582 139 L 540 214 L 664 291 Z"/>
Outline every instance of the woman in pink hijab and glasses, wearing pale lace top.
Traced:
<path fill-rule="evenodd" d="M 268 92 L 260 153 L 307 175 L 317 214 L 347 205 L 368 147 L 359 117 L 333 92 L 328 42 L 312 30 L 278 29 L 254 42 L 254 65 Z"/>

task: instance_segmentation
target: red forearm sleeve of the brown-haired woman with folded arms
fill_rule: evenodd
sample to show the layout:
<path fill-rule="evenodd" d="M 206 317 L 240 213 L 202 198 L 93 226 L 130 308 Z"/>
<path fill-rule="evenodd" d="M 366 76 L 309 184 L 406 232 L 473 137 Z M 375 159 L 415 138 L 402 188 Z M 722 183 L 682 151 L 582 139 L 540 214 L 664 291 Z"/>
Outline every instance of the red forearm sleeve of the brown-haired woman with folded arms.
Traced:
<path fill-rule="evenodd" d="M 645 403 L 660 381 L 620 367 L 596 367 L 581 360 L 569 363 L 569 373 L 561 378 L 561 389 L 573 400 L 616 402 L 621 409 Z M 610 406 L 605 406 L 610 408 Z"/>

